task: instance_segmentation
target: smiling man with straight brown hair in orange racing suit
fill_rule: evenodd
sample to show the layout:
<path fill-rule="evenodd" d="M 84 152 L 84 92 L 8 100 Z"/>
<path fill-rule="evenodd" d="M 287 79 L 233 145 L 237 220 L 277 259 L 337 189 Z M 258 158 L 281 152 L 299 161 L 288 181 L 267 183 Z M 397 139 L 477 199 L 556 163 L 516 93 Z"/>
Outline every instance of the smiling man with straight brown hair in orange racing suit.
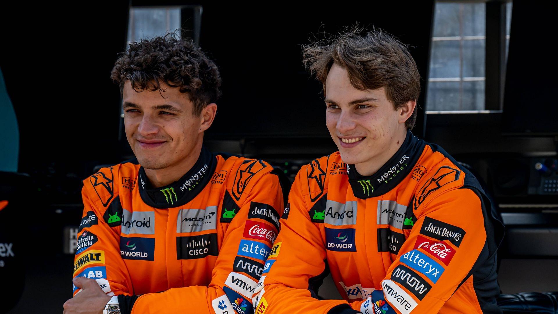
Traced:
<path fill-rule="evenodd" d="M 407 47 L 352 29 L 304 48 L 339 151 L 303 166 L 258 284 L 256 313 L 498 313 L 503 225 L 474 175 L 411 134 Z M 331 272 L 344 301 L 320 300 Z"/>

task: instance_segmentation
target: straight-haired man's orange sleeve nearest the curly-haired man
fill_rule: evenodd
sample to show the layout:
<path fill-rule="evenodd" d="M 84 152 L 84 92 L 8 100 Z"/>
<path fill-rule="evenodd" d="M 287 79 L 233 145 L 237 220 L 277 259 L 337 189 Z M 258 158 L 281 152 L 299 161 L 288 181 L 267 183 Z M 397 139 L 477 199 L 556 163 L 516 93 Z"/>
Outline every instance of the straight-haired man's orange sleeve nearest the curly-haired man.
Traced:
<path fill-rule="evenodd" d="M 299 171 L 288 196 L 288 213 L 281 219 L 281 232 L 275 241 L 276 254 L 270 255 L 260 279 L 256 314 L 263 313 L 327 313 L 347 301 L 322 300 L 314 284 L 327 275 L 326 249 L 321 231 L 309 219 Z M 287 210 L 285 210 L 287 211 Z M 254 298 L 256 300 L 256 298 Z"/>

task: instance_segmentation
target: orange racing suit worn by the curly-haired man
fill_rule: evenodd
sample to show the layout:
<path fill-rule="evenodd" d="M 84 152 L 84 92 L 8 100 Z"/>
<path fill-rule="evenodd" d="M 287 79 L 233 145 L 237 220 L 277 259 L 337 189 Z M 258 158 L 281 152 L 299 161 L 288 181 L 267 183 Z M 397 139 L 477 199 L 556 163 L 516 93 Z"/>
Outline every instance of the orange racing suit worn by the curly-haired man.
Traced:
<path fill-rule="evenodd" d="M 74 277 L 118 295 L 123 314 L 250 313 L 283 183 L 262 160 L 206 148 L 161 188 L 137 161 L 102 168 L 84 180 Z"/>

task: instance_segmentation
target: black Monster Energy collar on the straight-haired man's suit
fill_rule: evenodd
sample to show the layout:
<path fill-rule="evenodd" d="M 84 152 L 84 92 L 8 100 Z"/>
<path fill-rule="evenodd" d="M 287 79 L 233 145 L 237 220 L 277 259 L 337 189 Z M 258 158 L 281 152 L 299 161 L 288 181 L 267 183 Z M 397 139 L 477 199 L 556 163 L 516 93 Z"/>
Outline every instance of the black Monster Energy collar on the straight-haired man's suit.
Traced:
<path fill-rule="evenodd" d="M 412 172 L 423 150 L 424 142 L 408 131 L 397 153 L 373 175 L 360 175 L 354 165 L 348 165 L 349 184 L 354 196 L 365 199 L 386 194 Z"/>

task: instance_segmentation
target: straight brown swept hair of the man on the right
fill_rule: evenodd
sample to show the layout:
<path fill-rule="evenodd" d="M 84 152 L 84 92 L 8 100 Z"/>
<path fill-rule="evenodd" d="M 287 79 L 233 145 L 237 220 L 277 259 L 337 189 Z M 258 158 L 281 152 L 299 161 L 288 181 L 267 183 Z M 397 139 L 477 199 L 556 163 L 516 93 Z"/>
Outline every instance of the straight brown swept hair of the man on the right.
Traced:
<path fill-rule="evenodd" d="M 419 98 L 419 69 L 408 47 L 381 28 L 347 27 L 336 36 L 304 46 L 303 58 L 306 68 L 323 84 L 324 94 L 325 80 L 336 63 L 347 69 L 354 88 L 384 87 L 396 110 Z M 415 127 L 418 107 L 405 121 L 409 130 Z"/>

